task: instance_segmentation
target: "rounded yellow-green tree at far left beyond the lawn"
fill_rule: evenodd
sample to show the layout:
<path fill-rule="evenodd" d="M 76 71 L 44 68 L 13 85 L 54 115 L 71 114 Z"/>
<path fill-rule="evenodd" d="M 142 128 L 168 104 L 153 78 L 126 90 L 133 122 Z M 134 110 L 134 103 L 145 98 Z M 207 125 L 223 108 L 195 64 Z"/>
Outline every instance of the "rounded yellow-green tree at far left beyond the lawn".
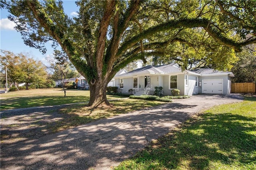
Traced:
<path fill-rule="evenodd" d="M 36 61 L 30 57 L 29 54 L 19 53 L 15 55 L 10 51 L 1 50 L 1 65 L 7 66 L 8 78 L 14 85 L 18 83 L 26 83 L 26 90 L 28 84 L 45 83 L 46 81 L 46 67 L 41 61 Z"/>

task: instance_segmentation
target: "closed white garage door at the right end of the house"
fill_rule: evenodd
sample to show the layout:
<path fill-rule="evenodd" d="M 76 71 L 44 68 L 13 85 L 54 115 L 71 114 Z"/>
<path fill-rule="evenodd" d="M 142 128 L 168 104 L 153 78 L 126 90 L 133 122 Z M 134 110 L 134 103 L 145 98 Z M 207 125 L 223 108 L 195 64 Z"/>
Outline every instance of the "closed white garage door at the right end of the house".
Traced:
<path fill-rule="evenodd" d="M 222 91 L 222 79 L 203 80 L 203 93 L 222 94 Z"/>

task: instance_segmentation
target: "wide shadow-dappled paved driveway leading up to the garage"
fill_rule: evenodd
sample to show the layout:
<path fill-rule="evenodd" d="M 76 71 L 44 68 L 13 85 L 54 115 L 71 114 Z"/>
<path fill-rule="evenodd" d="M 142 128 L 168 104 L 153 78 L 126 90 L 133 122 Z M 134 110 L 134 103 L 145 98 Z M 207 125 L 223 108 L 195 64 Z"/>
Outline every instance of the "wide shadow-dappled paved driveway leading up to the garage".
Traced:
<path fill-rule="evenodd" d="M 192 96 L 11 144 L 1 150 L 1 170 L 107 170 L 202 109 L 242 100 L 238 95 Z"/>

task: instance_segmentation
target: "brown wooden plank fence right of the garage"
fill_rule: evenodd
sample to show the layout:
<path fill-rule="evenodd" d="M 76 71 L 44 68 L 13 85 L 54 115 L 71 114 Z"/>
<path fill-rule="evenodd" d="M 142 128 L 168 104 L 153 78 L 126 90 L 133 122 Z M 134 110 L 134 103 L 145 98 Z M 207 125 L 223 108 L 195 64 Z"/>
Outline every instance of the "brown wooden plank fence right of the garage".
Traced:
<path fill-rule="evenodd" d="M 255 93 L 255 83 L 231 83 L 231 93 Z"/>

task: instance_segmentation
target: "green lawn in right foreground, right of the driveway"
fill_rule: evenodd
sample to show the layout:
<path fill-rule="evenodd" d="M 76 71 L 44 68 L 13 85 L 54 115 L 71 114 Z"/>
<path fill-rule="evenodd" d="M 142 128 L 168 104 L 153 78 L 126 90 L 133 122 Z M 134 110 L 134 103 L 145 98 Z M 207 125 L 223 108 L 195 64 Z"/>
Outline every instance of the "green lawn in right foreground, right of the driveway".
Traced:
<path fill-rule="evenodd" d="M 114 169 L 256 169 L 256 97 L 205 111 Z"/>

